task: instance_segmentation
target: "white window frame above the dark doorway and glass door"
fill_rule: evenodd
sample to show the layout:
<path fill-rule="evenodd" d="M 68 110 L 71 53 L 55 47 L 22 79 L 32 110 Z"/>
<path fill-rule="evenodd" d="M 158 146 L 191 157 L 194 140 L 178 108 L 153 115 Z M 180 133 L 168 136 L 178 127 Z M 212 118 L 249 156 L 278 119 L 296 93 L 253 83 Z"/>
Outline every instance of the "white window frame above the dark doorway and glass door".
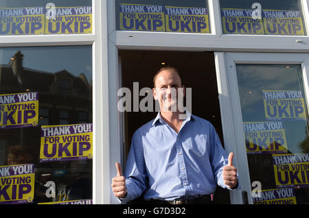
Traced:
<path fill-rule="evenodd" d="M 115 1 L 108 1 L 108 18 L 115 18 Z M 222 34 L 219 0 L 208 1 L 211 34 L 120 31 L 115 19 L 108 38 L 118 49 L 165 49 L 181 51 L 308 52 L 308 36 Z M 307 0 L 300 0 L 306 32 L 309 31 Z M 309 32 L 308 32 L 309 33 Z M 308 34 L 309 35 L 309 34 Z"/>

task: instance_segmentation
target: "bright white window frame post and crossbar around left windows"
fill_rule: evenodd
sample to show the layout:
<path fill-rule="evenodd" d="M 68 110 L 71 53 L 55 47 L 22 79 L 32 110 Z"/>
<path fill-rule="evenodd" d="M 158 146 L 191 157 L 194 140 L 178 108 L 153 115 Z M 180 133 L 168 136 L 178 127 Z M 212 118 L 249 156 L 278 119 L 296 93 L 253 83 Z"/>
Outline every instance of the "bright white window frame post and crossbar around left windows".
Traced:
<path fill-rule="evenodd" d="M 91 45 L 93 55 L 93 204 L 108 204 L 110 128 L 107 0 L 92 0 L 92 34 L 0 36 L 1 47 Z M 117 146 L 115 146 L 117 147 Z M 117 152 L 117 151 L 116 151 Z"/>

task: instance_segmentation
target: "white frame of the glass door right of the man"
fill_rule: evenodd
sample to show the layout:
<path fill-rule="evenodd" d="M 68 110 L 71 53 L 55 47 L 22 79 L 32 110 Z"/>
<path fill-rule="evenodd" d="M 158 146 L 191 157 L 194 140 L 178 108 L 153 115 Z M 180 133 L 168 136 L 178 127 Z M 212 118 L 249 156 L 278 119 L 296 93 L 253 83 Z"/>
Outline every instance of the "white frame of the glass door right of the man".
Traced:
<path fill-rule="evenodd" d="M 240 176 L 240 191 L 231 191 L 231 204 L 244 204 L 243 195 L 253 204 L 247 151 L 244 146 L 242 112 L 236 64 L 301 64 L 306 104 L 309 96 L 309 54 L 307 53 L 215 53 L 222 128 L 227 152 L 235 152 L 235 165 Z"/>

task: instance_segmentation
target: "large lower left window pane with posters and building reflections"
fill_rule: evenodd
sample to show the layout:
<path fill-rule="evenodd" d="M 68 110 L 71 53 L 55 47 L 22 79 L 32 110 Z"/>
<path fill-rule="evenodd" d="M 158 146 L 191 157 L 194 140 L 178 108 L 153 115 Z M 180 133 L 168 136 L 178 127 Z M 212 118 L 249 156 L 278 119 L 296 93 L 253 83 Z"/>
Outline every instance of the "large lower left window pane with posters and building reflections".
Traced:
<path fill-rule="evenodd" d="M 0 48 L 0 204 L 92 203 L 91 50 Z"/>

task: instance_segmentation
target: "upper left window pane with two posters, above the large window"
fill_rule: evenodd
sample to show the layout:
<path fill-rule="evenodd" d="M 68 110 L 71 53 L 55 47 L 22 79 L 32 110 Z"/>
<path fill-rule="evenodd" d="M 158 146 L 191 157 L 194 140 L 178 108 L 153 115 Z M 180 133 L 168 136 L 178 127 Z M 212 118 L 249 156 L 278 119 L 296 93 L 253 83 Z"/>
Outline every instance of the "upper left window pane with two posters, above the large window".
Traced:
<path fill-rule="evenodd" d="M 0 1 L 0 36 L 91 33 L 91 0 Z"/>

